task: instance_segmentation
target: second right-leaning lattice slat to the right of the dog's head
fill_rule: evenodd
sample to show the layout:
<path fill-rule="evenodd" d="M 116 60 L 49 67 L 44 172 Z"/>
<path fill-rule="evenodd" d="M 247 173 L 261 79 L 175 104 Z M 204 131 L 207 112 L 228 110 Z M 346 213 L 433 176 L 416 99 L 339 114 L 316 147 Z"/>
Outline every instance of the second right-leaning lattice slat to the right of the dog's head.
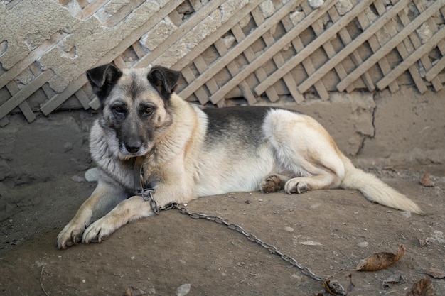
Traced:
<path fill-rule="evenodd" d="M 288 4 L 291 2 L 292 1 L 289 1 Z M 301 2 L 301 0 L 298 1 L 298 3 L 296 3 L 296 4 L 299 4 L 299 2 Z M 334 4 L 335 4 L 335 1 L 327 2 L 326 4 L 321 6 L 316 11 L 313 11 L 313 13 L 311 13 L 309 16 L 306 16 L 306 18 L 304 18 L 303 21 L 298 23 L 294 28 L 291 29 L 291 31 L 289 31 L 288 33 L 286 33 L 286 35 L 284 35 L 282 38 L 277 40 L 277 42 L 274 43 L 274 45 L 270 46 L 267 50 L 265 50 L 264 53 L 259 55 L 256 60 L 251 62 L 249 65 L 246 65 L 240 72 L 238 72 L 238 74 L 235 77 L 232 78 L 232 80 L 230 80 L 229 82 L 224 84 L 224 86 L 221 87 L 218 90 L 218 92 L 227 93 L 230 91 L 230 89 L 233 89 L 236 86 L 238 81 L 245 80 L 245 78 L 248 77 L 250 74 L 252 74 L 252 72 L 254 72 L 254 70 L 256 70 L 258 67 L 261 67 L 262 65 L 264 65 L 264 61 L 269 60 L 271 57 L 273 57 L 275 54 L 277 54 L 280 50 L 282 50 L 282 48 L 284 48 L 284 46 L 286 44 L 288 44 L 291 40 L 296 38 L 296 36 L 298 36 L 301 32 L 306 30 L 306 28 L 311 26 L 311 23 L 313 23 L 313 21 L 316 21 L 318 19 L 318 17 L 322 16 L 323 13 L 325 13 L 328 9 L 330 9 Z M 269 19 L 267 21 L 269 21 Z M 266 22 L 264 22 L 264 23 L 266 23 Z M 264 34 L 262 34 L 262 35 L 264 35 Z M 264 80 L 264 81 L 266 81 L 266 80 Z M 255 92 L 257 95 L 262 94 L 264 91 L 265 91 L 265 89 L 262 92 L 257 92 L 255 89 Z M 215 93 L 215 96 L 218 95 L 218 92 Z"/>

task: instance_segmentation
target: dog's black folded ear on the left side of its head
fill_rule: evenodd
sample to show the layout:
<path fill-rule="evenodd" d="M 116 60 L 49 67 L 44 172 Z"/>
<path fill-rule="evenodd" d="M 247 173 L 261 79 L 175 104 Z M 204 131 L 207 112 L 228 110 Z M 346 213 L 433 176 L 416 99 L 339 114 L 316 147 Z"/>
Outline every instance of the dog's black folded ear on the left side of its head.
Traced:
<path fill-rule="evenodd" d="M 122 71 L 112 64 L 102 65 L 87 71 L 87 78 L 92 91 L 95 92 L 101 102 L 107 97 L 121 76 Z"/>

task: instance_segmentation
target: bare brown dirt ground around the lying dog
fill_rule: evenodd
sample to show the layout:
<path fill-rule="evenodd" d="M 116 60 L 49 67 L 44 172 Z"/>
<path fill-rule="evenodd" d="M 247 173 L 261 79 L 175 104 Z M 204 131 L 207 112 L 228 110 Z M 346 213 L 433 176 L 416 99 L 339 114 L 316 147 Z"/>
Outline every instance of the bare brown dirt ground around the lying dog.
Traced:
<path fill-rule="evenodd" d="M 350 274 L 354 286 L 348 295 L 406 295 L 427 277 L 425 270 L 445 268 L 445 168 L 371 171 L 428 214 L 403 215 L 353 190 L 231 193 L 186 208 L 238 224 L 346 288 Z M 419 183 L 424 171 L 434 187 Z M 323 290 L 321 282 L 242 234 L 176 209 L 127 224 L 102 243 L 58 250 L 55 237 L 94 187 L 61 175 L 16 188 L 23 197 L 21 211 L 0 224 L 0 295 L 124 295 L 128 287 L 134 290 L 127 295 L 316 295 Z M 407 251 L 395 265 L 351 270 L 372 253 L 395 253 L 400 245 Z M 393 275 L 399 282 L 385 287 Z M 442 295 L 444 280 L 431 281 Z"/>

